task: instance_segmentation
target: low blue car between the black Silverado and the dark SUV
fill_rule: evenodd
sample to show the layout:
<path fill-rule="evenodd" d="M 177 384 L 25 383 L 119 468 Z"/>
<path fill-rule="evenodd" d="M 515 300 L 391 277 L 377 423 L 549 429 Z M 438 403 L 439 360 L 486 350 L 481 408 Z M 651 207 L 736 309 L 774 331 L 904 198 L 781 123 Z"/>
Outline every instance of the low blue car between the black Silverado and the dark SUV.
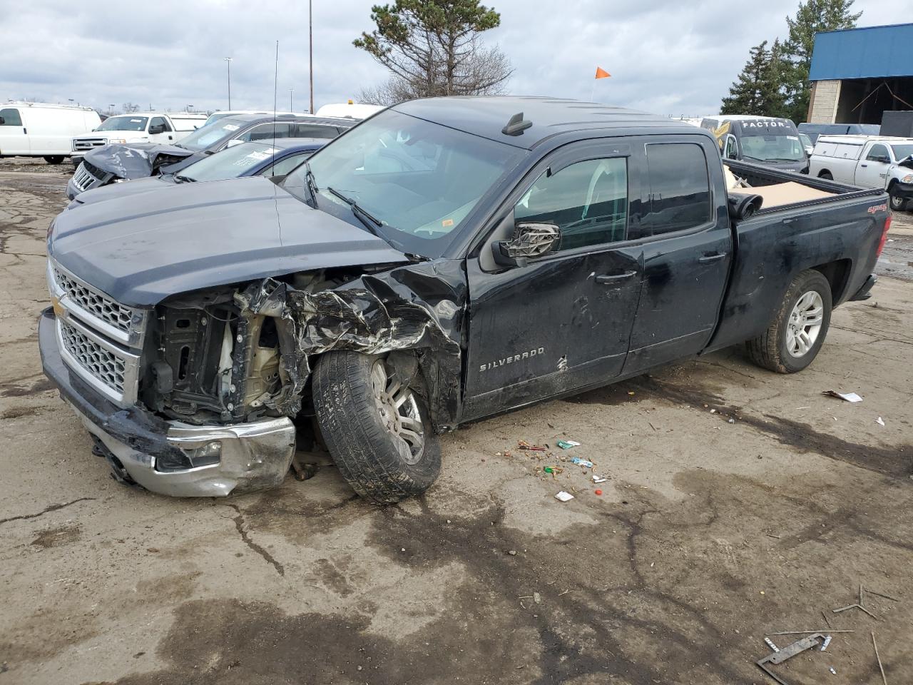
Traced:
<path fill-rule="evenodd" d="M 157 190 L 173 184 L 223 181 L 241 176 L 284 176 L 329 142 L 323 138 L 279 138 L 276 141 L 242 142 L 211 154 L 173 174 L 122 181 L 80 193 L 68 205 L 101 202 Z"/>

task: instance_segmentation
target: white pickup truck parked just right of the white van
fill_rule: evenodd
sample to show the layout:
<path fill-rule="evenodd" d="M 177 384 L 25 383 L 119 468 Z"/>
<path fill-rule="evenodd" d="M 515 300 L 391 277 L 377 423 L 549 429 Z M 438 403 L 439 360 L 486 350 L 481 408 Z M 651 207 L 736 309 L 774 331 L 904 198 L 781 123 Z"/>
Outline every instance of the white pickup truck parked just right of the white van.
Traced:
<path fill-rule="evenodd" d="M 73 166 L 79 166 L 82 155 L 89 150 L 111 142 L 173 144 L 201 128 L 205 121 L 205 114 L 165 111 L 144 111 L 109 117 L 95 131 L 73 138 Z"/>

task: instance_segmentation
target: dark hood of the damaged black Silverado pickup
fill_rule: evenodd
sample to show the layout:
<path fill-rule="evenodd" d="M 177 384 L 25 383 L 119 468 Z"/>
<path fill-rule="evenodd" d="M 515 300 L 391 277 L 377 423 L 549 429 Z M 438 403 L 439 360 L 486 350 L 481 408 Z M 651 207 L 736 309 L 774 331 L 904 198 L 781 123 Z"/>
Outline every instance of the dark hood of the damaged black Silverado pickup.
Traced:
<path fill-rule="evenodd" d="M 311 209 L 260 176 L 179 184 L 65 211 L 47 253 L 132 306 L 294 271 L 409 261 L 382 238 Z"/>

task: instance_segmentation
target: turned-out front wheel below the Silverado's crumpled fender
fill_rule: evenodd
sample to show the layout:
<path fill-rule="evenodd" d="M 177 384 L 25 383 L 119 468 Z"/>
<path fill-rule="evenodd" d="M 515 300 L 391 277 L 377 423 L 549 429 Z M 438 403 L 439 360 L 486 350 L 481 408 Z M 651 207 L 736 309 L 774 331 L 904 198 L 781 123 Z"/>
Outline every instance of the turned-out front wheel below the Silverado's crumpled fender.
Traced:
<path fill-rule="evenodd" d="M 320 357 L 312 376 L 331 457 L 352 489 L 378 504 L 421 494 L 441 469 L 421 380 L 404 375 L 385 357 L 341 351 Z"/>

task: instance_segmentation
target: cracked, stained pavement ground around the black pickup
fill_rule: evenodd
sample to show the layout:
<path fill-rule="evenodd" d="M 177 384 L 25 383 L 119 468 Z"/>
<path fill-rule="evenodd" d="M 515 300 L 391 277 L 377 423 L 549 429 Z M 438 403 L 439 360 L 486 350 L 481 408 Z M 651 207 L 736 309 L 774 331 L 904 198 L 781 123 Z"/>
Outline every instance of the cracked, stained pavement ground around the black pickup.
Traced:
<path fill-rule="evenodd" d="M 835 311 L 802 374 L 731 350 L 464 427 L 435 487 L 399 506 L 357 499 L 331 467 L 170 500 L 110 479 L 40 372 L 43 241 L 68 168 L 6 162 L 0 685 L 760 684 L 765 636 L 828 627 L 855 632 L 775 667 L 785 680 L 880 683 L 875 631 L 887 681 L 909 681 L 909 280 Z M 882 272 L 908 274 L 909 217 Z M 860 584 L 874 617 L 832 613 Z"/>

